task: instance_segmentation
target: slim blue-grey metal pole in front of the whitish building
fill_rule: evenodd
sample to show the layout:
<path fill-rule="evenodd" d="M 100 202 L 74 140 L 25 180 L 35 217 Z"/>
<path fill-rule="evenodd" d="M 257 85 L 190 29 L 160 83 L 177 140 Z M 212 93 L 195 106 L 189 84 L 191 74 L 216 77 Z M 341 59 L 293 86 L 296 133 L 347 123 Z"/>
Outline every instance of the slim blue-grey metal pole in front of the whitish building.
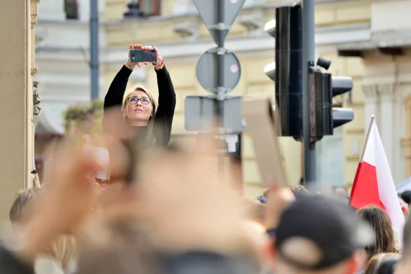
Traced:
<path fill-rule="evenodd" d="M 98 0 L 90 0 L 90 69 L 91 100 L 99 98 L 99 8 Z"/>

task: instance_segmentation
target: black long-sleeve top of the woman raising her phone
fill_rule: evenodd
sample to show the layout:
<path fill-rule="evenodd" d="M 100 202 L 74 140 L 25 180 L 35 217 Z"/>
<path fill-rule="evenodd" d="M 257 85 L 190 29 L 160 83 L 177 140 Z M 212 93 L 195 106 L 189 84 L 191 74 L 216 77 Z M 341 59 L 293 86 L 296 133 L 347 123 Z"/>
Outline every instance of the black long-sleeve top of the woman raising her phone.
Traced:
<path fill-rule="evenodd" d="M 173 124 L 176 102 L 175 90 L 166 66 L 155 71 L 155 73 L 157 74 L 158 85 L 158 109 L 155 113 L 153 134 L 156 140 L 155 144 L 166 147 L 169 145 L 171 138 L 171 126 Z M 127 88 L 128 79 L 131 74 L 132 71 L 128 69 L 127 66 L 123 66 L 120 69 L 110 84 L 107 95 L 105 95 L 104 110 L 116 106 L 121 108 L 125 89 Z"/>

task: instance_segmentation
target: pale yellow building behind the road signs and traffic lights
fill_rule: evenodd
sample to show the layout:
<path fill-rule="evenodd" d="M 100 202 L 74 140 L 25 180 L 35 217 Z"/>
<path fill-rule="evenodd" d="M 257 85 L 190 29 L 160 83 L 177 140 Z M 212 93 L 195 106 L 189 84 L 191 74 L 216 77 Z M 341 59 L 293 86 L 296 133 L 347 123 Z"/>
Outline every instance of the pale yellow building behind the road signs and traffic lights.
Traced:
<path fill-rule="evenodd" d="M 242 67 L 242 77 L 233 90 L 233 95 L 274 96 L 274 83 L 263 73 L 263 69 L 274 60 L 275 40 L 264 32 L 264 24 L 275 17 L 278 5 L 279 1 L 273 0 L 247 0 L 227 36 L 226 47 L 236 53 Z M 333 177 L 334 174 L 335 178 L 335 174 L 338 174 L 340 180 L 331 182 L 332 184 L 351 184 L 364 141 L 364 96 L 361 88 L 364 65 L 358 57 L 340 58 L 337 46 L 369 39 L 370 7 L 371 1 L 319 1 L 316 5 L 317 56 L 332 60 L 332 73 L 351 76 L 355 81 L 355 88 L 349 99 L 340 98 L 340 103 L 356 112 L 355 121 L 345 125 L 339 136 L 336 134 L 334 138 L 328 137 L 318 146 L 322 153 L 319 153 L 317 173 L 325 174 L 323 178 L 327 178 L 327 174 L 328 177 Z M 125 62 L 129 43 L 156 45 L 164 55 L 177 92 L 173 136 L 190 136 L 192 133 L 184 130 L 184 97 L 206 94 L 195 76 L 199 56 L 214 47 L 206 26 L 192 1 L 160 1 L 160 16 L 148 18 L 124 18 L 123 12 L 126 10 L 126 0 L 106 1 L 106 19 L 110 23 L 106 33 L 108 55 L 105 62 L 105 88 Z M 141 71 L 140 75 L 132 80 L 132 84 L 145 81 L 155 92 L 155 74 Z M 142 79 L 144 77 L 147 79 Z M 301 143 L 292 138 L 280 139 L 288 178 L 291 184 L 297 184 L 302 175 Z M 353 143 L 357 144 L 356 149 L 351 149 Z M 327 153 L 335 147 L 345 149 L 340 149 L 341 153 Z M 333 159 L 330 160 L 329 157 Z M 334 163 L 331 169 L 336 173 L 325 172 L 329 169 L 328 166 L 321 169 L 329 163 Z M 247 194 L 258 194 L 262 185 L 247 134 L 242 136 L 242 173 Z"/>

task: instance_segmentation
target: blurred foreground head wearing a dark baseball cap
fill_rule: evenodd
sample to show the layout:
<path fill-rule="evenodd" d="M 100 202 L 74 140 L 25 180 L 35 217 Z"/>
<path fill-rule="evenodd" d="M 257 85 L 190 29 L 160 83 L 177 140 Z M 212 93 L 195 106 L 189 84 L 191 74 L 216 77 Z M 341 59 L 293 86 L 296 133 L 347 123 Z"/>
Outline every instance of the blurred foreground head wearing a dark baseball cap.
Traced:
<path fill-rule="evenodd" d="M 364 259 L 373 232 L 347 204 L 317 194 L 301 196 L 279 219 L 275 273 L 351 274 Z"/>

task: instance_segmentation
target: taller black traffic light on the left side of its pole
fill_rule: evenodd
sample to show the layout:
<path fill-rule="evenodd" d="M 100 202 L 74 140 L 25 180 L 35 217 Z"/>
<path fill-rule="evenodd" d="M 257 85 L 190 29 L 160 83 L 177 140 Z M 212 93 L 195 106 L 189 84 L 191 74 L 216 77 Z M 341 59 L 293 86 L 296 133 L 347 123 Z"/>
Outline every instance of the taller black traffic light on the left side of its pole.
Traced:
<path fill-rule="evenodd" d="M 281 120 L 281 136 L 301 140 L 303 136 L 302 84 L 302 7 L 287 6 L 275 10 L 275 20 L 265 31 L 275 37 L 275 63 L 264 73 L 275 81 L 275 101 Z"/>

